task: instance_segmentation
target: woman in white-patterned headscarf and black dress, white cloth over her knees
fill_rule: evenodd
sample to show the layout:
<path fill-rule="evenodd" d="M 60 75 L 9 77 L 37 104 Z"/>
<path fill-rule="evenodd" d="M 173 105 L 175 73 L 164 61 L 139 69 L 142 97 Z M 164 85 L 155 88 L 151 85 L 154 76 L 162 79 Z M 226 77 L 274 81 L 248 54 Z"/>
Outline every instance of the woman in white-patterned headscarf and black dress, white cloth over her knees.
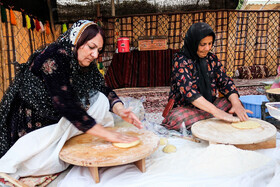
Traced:
<path fill-rule="evenodd" d="M 80 20 L 20 65 L 0 104 L 0 172 L 60 172 L 67 167 L 58 157 L 64 142 L 83 132 L 110 142 L 137 140 L 103 127 L 114 124 L 110 111 L 141 127 L 96 66 L 104 43 L 97 24 Z"/>

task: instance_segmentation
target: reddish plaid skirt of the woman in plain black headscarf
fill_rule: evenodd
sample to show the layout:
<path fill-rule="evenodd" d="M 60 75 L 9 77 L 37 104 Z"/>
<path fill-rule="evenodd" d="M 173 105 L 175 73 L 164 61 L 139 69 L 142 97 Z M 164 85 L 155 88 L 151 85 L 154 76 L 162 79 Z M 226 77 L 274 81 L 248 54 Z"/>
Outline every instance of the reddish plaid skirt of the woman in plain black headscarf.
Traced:
<path fill-rule="evenodd" d="M 231 108 L 231 103 L 224 97 L 217 98 L 213 104 L 224 111 Z M 167 129 L 180 130 L 181 124 L 184 122 L 186 129 L 190 131 L 191 125 L 195 122 L 212 117 L 212 114 L 190 106 L 176 107 L 165 117 L 162 126 Z"/>

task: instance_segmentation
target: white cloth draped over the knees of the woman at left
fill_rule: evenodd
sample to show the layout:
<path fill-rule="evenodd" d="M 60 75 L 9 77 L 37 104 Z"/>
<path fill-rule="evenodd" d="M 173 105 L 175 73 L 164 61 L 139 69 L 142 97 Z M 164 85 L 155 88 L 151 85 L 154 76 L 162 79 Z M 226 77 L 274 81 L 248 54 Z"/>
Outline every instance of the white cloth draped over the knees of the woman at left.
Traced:
<path fill-rule="evenodd" d="M 88 114 L 97 123 L 113 126 L 113 116 L 109 112 L 107 97 L 98 92 L 90 102 L 94 103 L 88 109 Z M 69 164 L 59 159 L 59 152 L 68 139 L 81 133 L 64 117 L 57 124 L 28 133 L 0 159 L 0 172 L 19 178 L 63 171 Z"/>

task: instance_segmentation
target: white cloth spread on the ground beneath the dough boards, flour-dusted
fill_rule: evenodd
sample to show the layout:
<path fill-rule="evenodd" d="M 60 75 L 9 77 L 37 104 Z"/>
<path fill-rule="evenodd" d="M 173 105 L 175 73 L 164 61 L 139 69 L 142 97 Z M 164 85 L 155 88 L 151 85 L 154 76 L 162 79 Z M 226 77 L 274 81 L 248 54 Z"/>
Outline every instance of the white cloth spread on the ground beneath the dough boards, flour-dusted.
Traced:
<path fill-rule="evenodd" d="M 277 147 L 257 151 L 231 145 L 194 143 L 169 138 L 177 152 L 166 154 L 163 146 L 146 159 L 146 172 L 126 164 L 99 169 L 96 184 L 86 167 L 74 166 L 59 187 L 279 187 L 280 134 Z"/>

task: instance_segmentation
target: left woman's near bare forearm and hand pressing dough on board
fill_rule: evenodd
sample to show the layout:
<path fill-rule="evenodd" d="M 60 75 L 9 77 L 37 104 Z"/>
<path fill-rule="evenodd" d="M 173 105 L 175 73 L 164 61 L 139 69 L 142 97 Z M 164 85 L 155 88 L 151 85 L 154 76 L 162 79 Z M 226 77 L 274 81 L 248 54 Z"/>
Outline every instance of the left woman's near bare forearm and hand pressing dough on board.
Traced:
<path fill-rule="evenodd" d="M 113 130 L 108 130 L 100 124 L 94 125 L 91 129 L 86 131 L 86 133 L 92 134 L 94 136 L 98 136 L 109 142 L 116 142 L 116 143 L 129 143 L 138 140 L 137 137 L 125 135 Z"/>

